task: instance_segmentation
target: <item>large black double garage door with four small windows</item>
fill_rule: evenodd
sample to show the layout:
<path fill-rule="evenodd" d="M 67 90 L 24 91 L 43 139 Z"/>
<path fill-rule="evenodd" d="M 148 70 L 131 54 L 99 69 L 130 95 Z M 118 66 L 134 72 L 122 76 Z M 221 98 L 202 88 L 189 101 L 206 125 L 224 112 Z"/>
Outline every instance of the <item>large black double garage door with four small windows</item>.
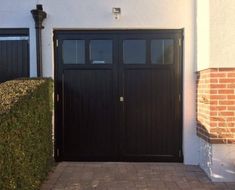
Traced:
<path fill-rule="evenodd" d="M 181 39 L 56 31 L 56 158 L 182 161 Z"/>

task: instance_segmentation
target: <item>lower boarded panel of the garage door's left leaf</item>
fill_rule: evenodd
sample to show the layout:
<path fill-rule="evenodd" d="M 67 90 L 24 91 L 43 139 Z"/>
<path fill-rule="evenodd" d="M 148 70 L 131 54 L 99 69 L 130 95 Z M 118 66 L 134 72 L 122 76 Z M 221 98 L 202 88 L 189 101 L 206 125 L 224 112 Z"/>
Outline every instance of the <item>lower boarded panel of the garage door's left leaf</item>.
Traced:
<path fill-rule="evenodd" d="M 112 70 L 65 70 L 64 98 L 65 154 L 112 154 Z"/>

